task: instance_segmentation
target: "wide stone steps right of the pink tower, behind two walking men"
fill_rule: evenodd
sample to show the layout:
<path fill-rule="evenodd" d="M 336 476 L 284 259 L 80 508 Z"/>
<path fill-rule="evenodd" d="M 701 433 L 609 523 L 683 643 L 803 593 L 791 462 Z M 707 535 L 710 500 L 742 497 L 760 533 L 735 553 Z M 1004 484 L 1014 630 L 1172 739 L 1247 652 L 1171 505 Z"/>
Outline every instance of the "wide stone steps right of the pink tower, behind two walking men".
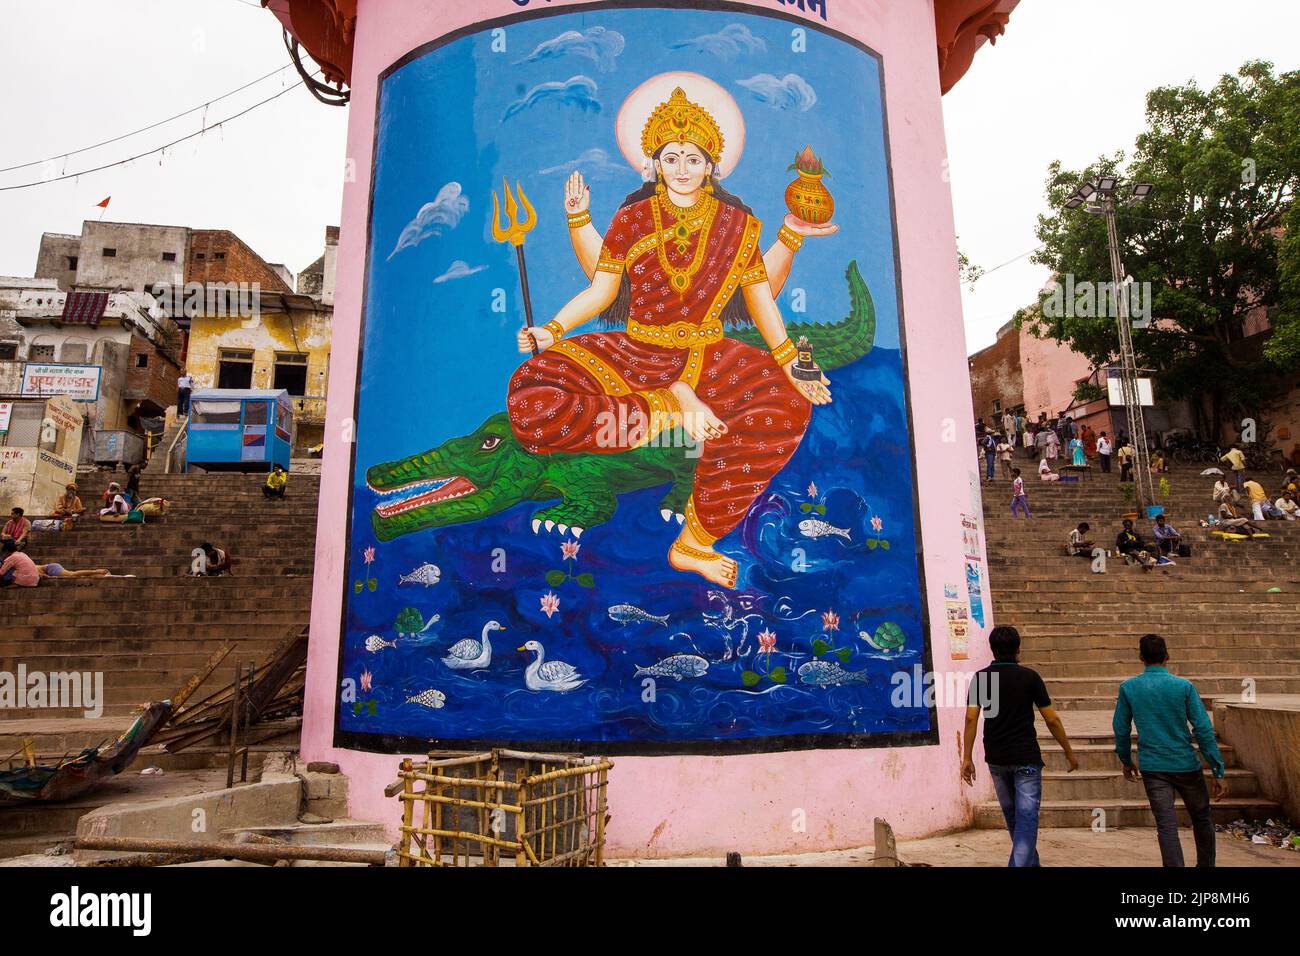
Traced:
<path fill-rule="evenodd" d="M 1216 696 L 1240 698 L 1244 689 L 1300 693 L 1300 523 L 1269 522 L 1268 540 L 1212 537 L 1199 519 L 1214 510 L 1214 479 L 1201 477 L 1200 468 L 1175 468 L 1165 476 L 1170 494 L 1161 503 L 1192 557 L 1143 571 L 1113 550 L 1122 515 L 1136 510 L 1122 494 L 1118 473 L 1044 483 L 1023 462 L 1017 466 L 1026 472 L 1031 520 L 1010 518 L 1008 480 L 984 486 L 993 618 L 1019 630 L 1022 662 L 1046 682 L 1080 761 L 1067 774 L 1065 754 L 1040 724 L 1046 762 L 1041 826 L 1092 826 L 1098 812 L 1108 827 L 1154 826 L 1141 784 L 1121 774 L 1110 731 L 1119 683 L 1141 670 L 1138 639 L 1161 633 L 1170 670 L 1195 682 L 1212 713 Z M 1280 472 L 1256 477 L 1270 492 L 1280 484 Z M 1065 554 L 1079 522 L 1088 522 L 1089 537 L 1112 550 L 1106 574 Z M 1150 541 L 1150 522 L 1141 518 L 1135 525 Z M 1216 819 L 1278 814 L 1277 804 L 1260 795 L 1254 774 L 1236 765 L 1231 748 L 1219 747 L 1228 796 L 1214 804 Z M 1140 761 L 1140 741 L 1138 750 Z M 1004 826 L 996 803 L 978 808 L 976 826 Z"/>

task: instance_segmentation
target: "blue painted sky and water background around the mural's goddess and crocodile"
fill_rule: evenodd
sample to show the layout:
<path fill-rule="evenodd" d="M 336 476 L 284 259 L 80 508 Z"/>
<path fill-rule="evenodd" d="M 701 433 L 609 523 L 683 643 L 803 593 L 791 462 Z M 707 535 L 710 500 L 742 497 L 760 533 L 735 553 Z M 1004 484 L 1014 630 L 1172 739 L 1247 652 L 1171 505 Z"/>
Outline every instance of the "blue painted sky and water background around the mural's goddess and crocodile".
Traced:
<path fill-rule="evenodd" d="M 924 640 L 879 74 L 872 57 L 812 30 L 807 52 L 792 52 L 792 26 L 681 9 L 552 16 L 508 26 L 506 52 L 491 51 L 489 34 L 473 35 L 385 81 L 348 555 L 348 584 L 360 591 L 347 592 L 342 672 L 358 680 L 364 671 L 369 687 L 359 709 L 342 706 L 341 728 L 615 743 L 930 730 L 926 709 L 889 705 L 890 675 L 922 661 Z M 506 407 L 523 306 L 514 247 L 491 238 L 491 190 L 503 176 L 512 187 L 519 181 L 537 208 L 525 250 L 534 316 L 545 323 L 586 285 L 568 242 L 564 178 L 582 170 L 603 229 L 640 185 L 615 139 L 619 107 L 667 70 L 701 73 L 736 98 L 746 147 L 724 185 L 763 221 L 764 248 L 786 211 L 796 152 L 811 144 L 831 172 L 840 232 L 809 239 L 796 256 L 777 299 L 786 321 L 841 320 L 850 260 L 876 310 L 875 349 L 831 372 L 835 403 L 815 411 L 789 466 L 720 544 L 740 559 L 738 589 L 724 594 L 667 566 L 677 524 L 659 515 L 662 488 L 620 498 L 614 519 L 582 536 L 575 562 L 562 561 L 558 533 L 532 532 L 537 503 L 376 542 L 365 470 L 467 434 Z M 504 290 L 504 313 L 493 310 L 494 290 Z M 796 290 L 806 297 L 803 313 L 792 311 Z M 819 514 L 805 506 L 816 505 L 848 540 L 801 535 L 800 520 Z M 504 572 L 493 564 L 495 549 L 504 549 Z M 439 567 L 437 584 L 398 585 L 425 562 Z M 572 579 L 550 587 L 552 570 L 590 574 L 594 587 Z M 541 611 L 547 592 L 560 598 L 550 618 Z M 620 604 L 667 623 L 615 622 L 608 609 Z M 416 637 L 396 637 L 404 607 L 438 620 Z M 827 610 L 838 615 L 837 631 L 824 628 Z M 478 637 L 493 619 L 507 631 L 494 635 L 489 669 L 452 671 L 441 662 L 450 644 Z M 905 639 L 900 650 L 859 637 L 888 623 Z M 776 633 L 770 656 L 757 653 L 763 630 Z M 396 646 L 367 650 L 372 636 Z M 575 665 L 585 683 L 568 693 L 526 691 L 530 654 L 515 650 L 525 640 Z M 818 640 L 831 645 L 820 656 Z M 707 670 L 656 676 L 655 700 L 646 702 L 637 667 L 672 654 L 703 658 Z M 852 678 L 837 687 L 801 680 L 798 669 L 814 659 Z M 779 669 L 784 684 L 771 679 Z M 442 706 L 408 702 L 429 689 L 441 692 Z"/>

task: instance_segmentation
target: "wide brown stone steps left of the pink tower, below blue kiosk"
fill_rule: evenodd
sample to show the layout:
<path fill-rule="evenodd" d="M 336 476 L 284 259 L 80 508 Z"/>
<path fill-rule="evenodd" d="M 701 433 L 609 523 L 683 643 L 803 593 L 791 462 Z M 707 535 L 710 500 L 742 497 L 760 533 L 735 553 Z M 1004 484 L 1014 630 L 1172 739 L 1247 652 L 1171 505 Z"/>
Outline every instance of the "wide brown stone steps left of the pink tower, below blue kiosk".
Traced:
<path fill-rule="evenodd" d="M 94 510 L 99 494 L 121 472 L 81 475 L 82 501 Z M 0 760 L 25 739 L 40 757 L 57 758 L 116 737 L 142 702 L 172 696 L 225 640 L 235 650 L 199 696 L 229 683 L 235 663 L 261 662 L 276 644 L 296 633 L 311 613 L 318 476 L 295 475 L 283 501 L 266 501 L 259 475 L 144 475 L 143 497 L 172 502 L 165 516 L 144 525 L 101 524 L 83 518 L 72 531 L 34 533 L 29 553 L 38 563 L 68 568 L 107 567 L 135 578 L 44 581 L 39 588 L 0 591 L 0 671 L 90 671 L 103 674 L 103 715 L 82 708 L 0 710 Z M 188 576 L 191 551 L 202 541 L 228 549 L 234 576 Z M 287 722 L 274 748 L 296 747 Z M 42 808 L 0 808 L 0 856 L 18 835 L 66 834 L 88 810 L 153 792 L 166 779 L 186 783 L 220 762 L 203 786 L 225 786 L 224 748 L 196 747 L 181 754 L 142 752 L 118 778 L 81 800 Z M 144 766 L 161 777 L 139 777 Z M 252 769 L 260 765 L 254 754 Z M 195 780 L 188 780 L 192 786 Z M 35 814 L 35 816 L 34 816 Z M 20 842 L 22 843 L 22 842 Z M 26 840 L 30 844 L 31 840 Z M 17 848 L 14 845 L 13 848 Z"/>

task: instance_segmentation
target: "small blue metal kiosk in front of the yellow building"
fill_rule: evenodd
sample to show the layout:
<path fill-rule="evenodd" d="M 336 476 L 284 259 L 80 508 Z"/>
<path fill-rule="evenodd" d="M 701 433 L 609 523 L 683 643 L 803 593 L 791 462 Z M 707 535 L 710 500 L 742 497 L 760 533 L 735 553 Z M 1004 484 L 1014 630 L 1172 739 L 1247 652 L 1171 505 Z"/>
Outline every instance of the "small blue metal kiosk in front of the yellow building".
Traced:
<path fill-rule="evenodd" d="M 190 397 L 185 470 L 289 470 L 294 405 L 285 389 L 199 389 Z"/>

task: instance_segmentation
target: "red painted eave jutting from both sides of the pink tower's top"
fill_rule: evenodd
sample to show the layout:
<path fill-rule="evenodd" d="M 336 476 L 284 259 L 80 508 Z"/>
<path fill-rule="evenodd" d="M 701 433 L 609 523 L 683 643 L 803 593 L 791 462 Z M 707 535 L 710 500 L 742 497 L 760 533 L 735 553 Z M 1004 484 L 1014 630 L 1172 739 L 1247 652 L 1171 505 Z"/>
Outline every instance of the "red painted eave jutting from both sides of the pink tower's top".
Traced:
<path fill-rule="evenodd" d="M 997 43 L 1019 0 L 933 1 L 939 85 L 948 92 L 966 75 L 975 52 L 985 42 Z M 333 83 L 351 83 L 356 4 L 358 0 L 261 0 Z"/>

